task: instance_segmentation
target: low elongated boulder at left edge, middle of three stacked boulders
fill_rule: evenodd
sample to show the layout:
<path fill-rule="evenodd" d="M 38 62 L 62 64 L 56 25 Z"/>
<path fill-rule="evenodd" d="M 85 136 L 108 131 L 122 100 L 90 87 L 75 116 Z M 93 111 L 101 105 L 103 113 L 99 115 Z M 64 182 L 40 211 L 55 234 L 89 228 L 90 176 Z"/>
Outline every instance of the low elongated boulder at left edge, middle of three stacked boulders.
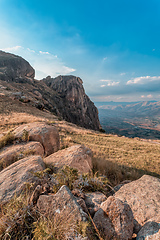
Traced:
<path fill-rule="evenodd" d="M 39 142 L 28 142 L 5 147 L 0 152 L 0 164 L 3 168 L 28 155 L 44 156 L 44 148 Z"/>

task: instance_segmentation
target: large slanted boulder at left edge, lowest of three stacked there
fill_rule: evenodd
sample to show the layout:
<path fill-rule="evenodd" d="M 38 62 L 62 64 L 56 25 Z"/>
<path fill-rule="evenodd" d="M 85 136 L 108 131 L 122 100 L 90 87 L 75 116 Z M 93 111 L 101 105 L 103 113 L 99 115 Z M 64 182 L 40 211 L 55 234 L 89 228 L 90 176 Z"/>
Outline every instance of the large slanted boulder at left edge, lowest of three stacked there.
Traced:
<path fill-rule="evenodd" d="M 26 183 L 36 183 L 38 178 L 34 175 L 37 171 L 45 169 L 40 156 L 23 158 L 0 172 L 0 202 L 5 203 L 15 194 L 18 196 Z"/>

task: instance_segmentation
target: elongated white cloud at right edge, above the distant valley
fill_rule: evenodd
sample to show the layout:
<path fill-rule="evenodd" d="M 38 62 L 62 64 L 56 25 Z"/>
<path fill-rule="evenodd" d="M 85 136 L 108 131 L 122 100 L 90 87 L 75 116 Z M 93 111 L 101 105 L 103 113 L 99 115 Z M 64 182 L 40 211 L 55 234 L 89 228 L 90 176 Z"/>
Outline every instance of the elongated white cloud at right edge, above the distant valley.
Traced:
<path fill-rule="evenodd" d="M 143 76 L 143 77 L 137 77 L 137 78 L 133 78 L 131 80 L 129 80 L 126 84 L 146 84 L 149 82 L 153 82 L 153 81 L 160 81 L 160 76 Z"/>

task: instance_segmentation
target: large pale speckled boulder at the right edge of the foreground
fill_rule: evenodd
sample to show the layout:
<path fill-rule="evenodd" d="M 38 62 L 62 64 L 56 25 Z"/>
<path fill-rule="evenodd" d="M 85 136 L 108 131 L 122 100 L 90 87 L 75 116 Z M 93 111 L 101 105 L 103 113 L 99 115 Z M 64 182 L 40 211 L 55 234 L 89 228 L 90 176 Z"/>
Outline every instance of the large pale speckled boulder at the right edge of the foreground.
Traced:
<path fill-rule="evenodd" d="M 134 215 L 134 228 L 138 233 L 148 221 L 160 223 L 160 179 L 144 175 L 140 179 L 125 184 L 115 193 L 115 197 L 126 202 Z"/>

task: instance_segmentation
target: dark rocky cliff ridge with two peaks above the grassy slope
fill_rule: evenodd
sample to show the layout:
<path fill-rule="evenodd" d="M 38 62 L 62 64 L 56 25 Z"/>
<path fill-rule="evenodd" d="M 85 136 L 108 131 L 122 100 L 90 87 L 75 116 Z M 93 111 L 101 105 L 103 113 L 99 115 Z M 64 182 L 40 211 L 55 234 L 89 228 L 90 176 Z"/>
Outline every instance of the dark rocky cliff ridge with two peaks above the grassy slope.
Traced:
<path fill-rule="evenodd" d="M 81 127 L 101 128 L 98 110 L 85 94 L 80 78 L 58 76 L 38 81 L 34 75 L 34 69 L 23 58 L 0 51 L 0 88 L 9 89 L 12 97 L 26 104 L 47 109 Z"/>

